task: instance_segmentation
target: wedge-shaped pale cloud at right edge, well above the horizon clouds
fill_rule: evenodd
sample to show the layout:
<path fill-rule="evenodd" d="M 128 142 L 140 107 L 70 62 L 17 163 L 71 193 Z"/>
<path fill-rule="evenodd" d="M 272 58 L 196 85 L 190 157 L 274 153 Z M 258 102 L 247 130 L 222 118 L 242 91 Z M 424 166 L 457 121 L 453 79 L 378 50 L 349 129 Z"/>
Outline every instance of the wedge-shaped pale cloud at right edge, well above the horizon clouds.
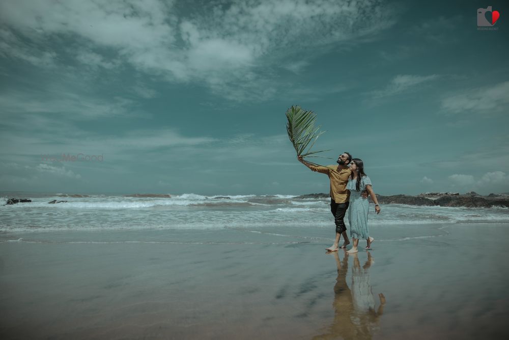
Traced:
<path fill-rule="evenodd" d="M 442 109 L 450 113 L 506 112 L 509 104 L 509 81 L 492 86 L 462 90 L 460 94 L 442 100 Z"/>

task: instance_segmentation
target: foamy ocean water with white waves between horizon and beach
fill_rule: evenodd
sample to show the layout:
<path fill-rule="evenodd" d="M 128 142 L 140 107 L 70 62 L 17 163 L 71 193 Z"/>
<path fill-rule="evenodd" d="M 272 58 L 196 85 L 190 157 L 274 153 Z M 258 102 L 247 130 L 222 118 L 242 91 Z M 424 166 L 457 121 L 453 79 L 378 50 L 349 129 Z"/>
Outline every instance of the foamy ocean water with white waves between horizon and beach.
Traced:
<path fill-rule="evenodd" d="M 78 195 L 75 195 L 78 196 Z M 0 206 L 0 234 L 46 231 L 225 231 L 274 232 L 309 228 L 330 230 L 329 199 L 297 199 L 291 195 L 130 197 L 31 194 L 30 203 Z M 0 199 L 5 202 L 9 193 Z M 20 197 L 20 196 L 17 196 Z M 225 198 L 228 197 L 228 198 Z M 51 200 L 67 202 L 48 204 Z M 467 208 L 382 204 L 380 215 L 370 206 L 369 223 L 377 227 L 509 223 L 507 208 Z M 348 215 L 348 214 L 347 214 Z M 348 216 L 346 218 L 348 222 Z"/>

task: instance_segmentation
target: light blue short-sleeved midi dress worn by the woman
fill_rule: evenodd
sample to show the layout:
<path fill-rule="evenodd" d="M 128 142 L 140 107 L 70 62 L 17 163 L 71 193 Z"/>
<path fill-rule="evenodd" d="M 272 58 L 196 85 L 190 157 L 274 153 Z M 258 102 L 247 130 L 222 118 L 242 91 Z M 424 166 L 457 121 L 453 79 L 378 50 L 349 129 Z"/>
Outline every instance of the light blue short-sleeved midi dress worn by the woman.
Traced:
<path fill-rule="evenodd" d="M 367 212 L 370 202 L 360 196 L 371 185 L 371 179 L 362 176 L 360 179 L 359 191 L 355 188 L 357 179 L 348 179 L 347 189 L 350 190 L 350 204 L 348 206 L 348 220 L 350 221 L 350 237 L 367 240 L 370 237 L 370 229 L 367 228 Z"/>

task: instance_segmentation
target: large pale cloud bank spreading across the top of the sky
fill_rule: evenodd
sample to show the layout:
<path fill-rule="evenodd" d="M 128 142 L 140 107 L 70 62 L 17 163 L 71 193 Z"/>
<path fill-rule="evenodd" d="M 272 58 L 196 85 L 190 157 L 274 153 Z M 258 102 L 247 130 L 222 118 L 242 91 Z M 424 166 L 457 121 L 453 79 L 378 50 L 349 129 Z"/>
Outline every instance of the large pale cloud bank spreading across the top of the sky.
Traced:
<path fill-rule="evenodd" d="M 182 4 L 192 10 L 184 13 Z M 275 70 L 306 66 L 304 50 L 316 56 L 373 40 L 394 24 L 393 11 L 377 0 L 19 0 L 0 2 L 0 50 L 40 67 L 70 58 L 98 72 L 130 65 L 229 99 L 258 100 L 275 95 Z"/>

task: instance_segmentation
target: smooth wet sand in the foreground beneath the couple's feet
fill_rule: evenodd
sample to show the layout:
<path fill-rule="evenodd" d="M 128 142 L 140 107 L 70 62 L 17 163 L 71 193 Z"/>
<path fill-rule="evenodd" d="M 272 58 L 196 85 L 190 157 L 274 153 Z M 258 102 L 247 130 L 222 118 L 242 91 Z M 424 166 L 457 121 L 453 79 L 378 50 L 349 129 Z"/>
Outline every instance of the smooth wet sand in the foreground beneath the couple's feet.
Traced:
<path fill-rule="evenodd" d="M 356 256 L 313 227 L 272 231 L 3 234 L 0 337 L 509 335 L 507 224 L 378 228 Z"/>

